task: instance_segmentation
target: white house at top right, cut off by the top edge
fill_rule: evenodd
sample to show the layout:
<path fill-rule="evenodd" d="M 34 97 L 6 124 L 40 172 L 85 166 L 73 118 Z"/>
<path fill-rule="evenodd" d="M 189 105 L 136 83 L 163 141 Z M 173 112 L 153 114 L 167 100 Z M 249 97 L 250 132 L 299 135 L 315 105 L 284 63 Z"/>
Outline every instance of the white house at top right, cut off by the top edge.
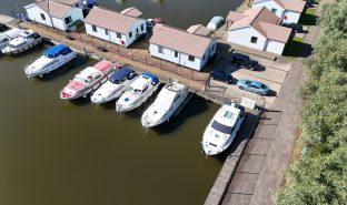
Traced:
<path fill-rule="evenodd" d="M 306 1 L 303 0 L 254 0 L 252 8 L 266 7 L 285 23 L 299 22 Z"/>

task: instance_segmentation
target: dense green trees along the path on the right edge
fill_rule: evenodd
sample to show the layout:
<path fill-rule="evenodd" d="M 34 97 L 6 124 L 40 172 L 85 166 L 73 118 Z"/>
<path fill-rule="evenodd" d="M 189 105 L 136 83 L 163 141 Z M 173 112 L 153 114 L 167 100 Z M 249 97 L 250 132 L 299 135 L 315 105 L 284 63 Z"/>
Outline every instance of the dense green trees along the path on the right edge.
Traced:
<path fill-rule="evenodd" d="M 303 133 L 307 151 L 289 167 L 276 204 L 347 204 L 347 0 L 324 8 L 314 54 L 305 61 Z"/>

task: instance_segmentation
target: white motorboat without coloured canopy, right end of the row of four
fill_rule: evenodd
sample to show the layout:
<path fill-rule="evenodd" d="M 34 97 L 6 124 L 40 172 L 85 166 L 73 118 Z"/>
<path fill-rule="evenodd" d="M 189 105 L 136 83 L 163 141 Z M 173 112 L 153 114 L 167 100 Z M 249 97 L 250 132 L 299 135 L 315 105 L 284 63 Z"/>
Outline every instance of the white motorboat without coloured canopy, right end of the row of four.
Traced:
<path fill-rule="evenodd" d="M 142 114 L 142 126 L 153 127 L 169 121 L 182 103 L 185 103 L 187 96 L 188 86 L 177 81 L 166 84 L 159 92 L 156 101 Z"/>

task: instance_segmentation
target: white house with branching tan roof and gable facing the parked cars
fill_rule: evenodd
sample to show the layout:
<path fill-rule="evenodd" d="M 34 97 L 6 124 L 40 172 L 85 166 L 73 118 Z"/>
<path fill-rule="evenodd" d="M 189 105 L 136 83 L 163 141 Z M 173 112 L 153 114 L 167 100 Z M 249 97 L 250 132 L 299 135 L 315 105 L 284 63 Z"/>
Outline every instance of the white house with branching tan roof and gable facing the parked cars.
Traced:
<path fill-rule="evenodd" d="M 227 17 L 228 41 L 281 55 L 291 29 L 277 25 L 279 18 L 265 7 L 244 13 L 230 11 Z"/>

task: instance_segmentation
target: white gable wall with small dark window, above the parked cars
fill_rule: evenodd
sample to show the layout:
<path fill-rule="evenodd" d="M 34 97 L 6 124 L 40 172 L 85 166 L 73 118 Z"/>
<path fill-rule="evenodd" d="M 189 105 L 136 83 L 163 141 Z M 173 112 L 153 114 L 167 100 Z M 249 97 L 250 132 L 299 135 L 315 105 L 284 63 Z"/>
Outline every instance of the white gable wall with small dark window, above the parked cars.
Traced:
<path fill-rule="evenodd" d="M 251 43 L 251 37 L 258 38 L 257 43 Z M 245 27 L 229 31 L 228 41 L 231 43 L 264 50 L 267 39 L 251 27 Z"/>

